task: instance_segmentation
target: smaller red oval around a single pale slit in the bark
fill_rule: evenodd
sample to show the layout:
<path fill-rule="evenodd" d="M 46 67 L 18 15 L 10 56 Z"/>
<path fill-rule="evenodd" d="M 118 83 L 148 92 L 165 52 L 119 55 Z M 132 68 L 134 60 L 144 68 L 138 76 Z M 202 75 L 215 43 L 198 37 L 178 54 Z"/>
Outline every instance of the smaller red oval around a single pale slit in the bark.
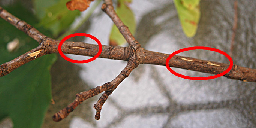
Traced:
<path fill-rule="evenodd" d="M 95 40 L 95 41 L 98 43 L 98 45 L 99 45 L 99 52 L 98 52 L 94 57 L 92 57 L 92 58 L 90 58 L 90 59 L 87 59 L 87 60 L 81 60 L 81 61 L 79 61 L 79 60 L 73 60 L 73 59 L 70 59 L 70 58 L 66 57 L 66 56 L 63 54 L 63 52 L 61 51 L 61 46 L 62 46 L 62 44 L 63 44 L 67 39 L 69 39 L 69 38 L 71 38 L 71 37 L 75 37 L 75 36 L 85 36 L 85 37 L 89 37 L 89 38 Z M 72 62 L 72 63 L 79 63 L 79 64 L 81 64 L 81 63 L 88 63 L 88 62 L 94 61 L 96 58 L 98 58 L 98 57 L 100 56 L 101 52 L 102 52 L 102 45 L 101 45 L 100 41 L 99 41 L 96 37 L 94 37 L 93 35 L 86 34 L 86 33 L 74 33 L 74 34 L 70 34 L 70 35 L 64 37 L 64 38 L 60 41 L 60 44 L 59 44 L 59 46 L 58 46 L 58 51 L 59 51 L 61 57 L 63 57 L 65 60 L 67 60 L 67 61 L 69 61 L 69 62 Z"/>

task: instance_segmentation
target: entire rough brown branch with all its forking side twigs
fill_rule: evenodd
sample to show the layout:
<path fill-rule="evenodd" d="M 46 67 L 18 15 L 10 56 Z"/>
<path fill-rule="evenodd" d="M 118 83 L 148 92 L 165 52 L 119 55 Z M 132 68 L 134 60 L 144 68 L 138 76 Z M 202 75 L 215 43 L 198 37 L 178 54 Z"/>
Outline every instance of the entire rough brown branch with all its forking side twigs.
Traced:
<path fill-rule="evenodd" d="M 105 3 L 102 5 L 102 10 L 112 19 L 117 28 L 120 30 L 120 33 L 123 34 L 124 38 L 128 42 L 128 47 L 120 46 L 106 46 L 102 45 L 102 53 L 100 58 L 108 58 L 115 60 L 124 60 L 127 61 L 126 67 L 121 71 L 121 73 L 115 77 L 111 82 L 105 83 L 102 86 L 97 86 L 96 88 L 90 89 L 85 92 L 80 92 L 76 94 L 76 99 L 73 103 L 69 104 L 63 110 L 60 110 L 53 116 L 54 121 L 60 121 L 69 115 L 79 104 L 84 100 L 93 97 L 103 91 L 105 91 L 102 96 L 99 98 L 94 108 L 96 109 L 95 119 L 100 118 L 100 110 L 102 109 L 103 104 L 107 100 L 108 96 L 112 94 L 115 88 L 135 69 L 139 64 L 154 64 L 154 65 L 163 65 L 165 66 L 165 61 L 169 54 L 163 54 L 159 52 L 148 51 L 141 48 L 141 45 L 130 33 L 130 30 L 120 18 L 115 13 L 114 7 L 112 5 L 112 0 L 104 0 Z M 54 40 L 49 37 L 46 37 L 40 33 L 36 28 L 27 24 L 25 21 L 21 21 L 16 18 L 2 7 L 0 7 L 0 17 L 5 19 L 10 24 L 14 25 L 19 30 L 28 34 L 34 40 L 39 42 L 37 48 L 32 49 L 31 51 L 26 52 L 25 54 L 0 65 L 0 77 L 9 74 L 11 71 L 16 68 L 24 65 L 38 57 L 41 57 L 46 54 L 58 53 L 58 44 L 60 40 Z M 84 42 L 69 42 L 66 41 L 61 47 L 63 53 L 75 54 L 75 55 L 85 55 L 85 56 L 94 56 L 99 51 L 98 45 L 88 44 Z M 196 58 L 174 56 L 169 61 L 170 67 L 183 68 L 187 70 L 199 71 L 203 73 L 210 74 L 219 74 L 225 71 L 229 64 L 223 64 L 213 61 L 199 60 Z M 229 79 L 238 79 L 243 81 L 256 82 L 256 69 L 241 67 L 238 65 L 233 66 L 229 73 L 224 75 Z"/>

